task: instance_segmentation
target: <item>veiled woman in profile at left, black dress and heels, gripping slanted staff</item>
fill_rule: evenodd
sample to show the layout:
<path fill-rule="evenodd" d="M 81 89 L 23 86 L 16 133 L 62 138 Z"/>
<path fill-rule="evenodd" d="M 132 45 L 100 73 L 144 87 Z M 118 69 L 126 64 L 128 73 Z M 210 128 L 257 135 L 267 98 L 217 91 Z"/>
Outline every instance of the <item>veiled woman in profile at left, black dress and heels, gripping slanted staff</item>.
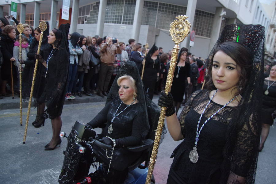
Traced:
<path fill-rule="evenodd" d="M 36 54 L 36 59 L 46 68 L 46 85 L 42 97 L 46 100 L 47 109 L 45 117 L 49 117 L 52 122 L 52 140 L 45 146 L 45 150 L 53 150 L 60 146 L 59 137 L 61 129 L 61 113 L 65 100 L 66 84 L 69 68 L 69 46 L 68 32 L 69 24 L 60 25 L 59 29 L 53 29 L 48 36 L 48 44 L 53 46 L 48 59 L 45 61 L 40 54 Z"/>

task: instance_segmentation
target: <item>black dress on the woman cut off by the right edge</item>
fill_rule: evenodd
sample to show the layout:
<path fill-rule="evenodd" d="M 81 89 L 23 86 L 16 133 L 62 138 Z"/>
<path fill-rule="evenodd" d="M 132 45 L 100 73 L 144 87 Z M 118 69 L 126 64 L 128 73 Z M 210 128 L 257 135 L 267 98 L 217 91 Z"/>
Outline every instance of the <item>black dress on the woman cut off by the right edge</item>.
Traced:
<path fill-rule="evenodd" d="M 265 79 L 263 83 L 263 106 L 262 106 L 262 123 L 272 125 L 272 113 L 276 110 L 276 82 L 269 81 L 268 94 L 266 95 L 264 92 L 267 90 L 268 80 Z M 272 84 L 273 83 L 273 84 Z"/>

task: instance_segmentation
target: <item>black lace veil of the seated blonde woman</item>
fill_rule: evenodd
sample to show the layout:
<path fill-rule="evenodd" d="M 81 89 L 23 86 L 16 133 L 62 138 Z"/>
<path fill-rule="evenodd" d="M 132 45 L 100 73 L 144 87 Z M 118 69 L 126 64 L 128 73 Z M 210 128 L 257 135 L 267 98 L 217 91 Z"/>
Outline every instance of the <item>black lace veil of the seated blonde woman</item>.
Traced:
<path fill-rule="evenodd" d="M 147 109 L 146 111 L 147 116 L 145 117 L 145 121 L 148 121 L 150 125 L 150 130 L 147 138 L 154 140 L 155 130 L 157 128 L 159 115 L 160 115 L 160 109 L 155 103 L 153 103 L 146 96 L 144 85 L 139 74 L 139 70 L 133 61 L 129 61 L 125 63 L 119 70 L 108 93 L 106 103 L 110 102 L 113 98 L 116 98 L 118 96 L 119 86 L 117 85 L 117 79 L 122 75 L 130 75 L 136 81 L 137 95 L 138 95 L 137 100 L 139 103 L 142 104 L 143 108 Z M 166 133 L 165 128 L 163 128 L 163 134 L 164 133 Z M 160 143 L 161 142 L 162 140 L 160 141 Z"/>

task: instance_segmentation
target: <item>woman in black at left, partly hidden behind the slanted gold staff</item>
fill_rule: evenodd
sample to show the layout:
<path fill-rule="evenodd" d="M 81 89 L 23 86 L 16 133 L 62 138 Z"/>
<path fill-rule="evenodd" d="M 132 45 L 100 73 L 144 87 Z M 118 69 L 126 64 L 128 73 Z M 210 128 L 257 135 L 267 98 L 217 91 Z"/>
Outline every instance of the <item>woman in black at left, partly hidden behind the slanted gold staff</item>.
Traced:
<path fill-rule="evenodd" d="M 22 83 L 23 83 L 23 98 L 29 98 L 30 96 L 30 91 L 31 91 L 31 86 L 32 86 L 32 80 L 33 80 L 33 71 L 34 71 L 34 66 L 35 66 L 35 54 L 37 52 L 38 48 L 38 43 L 40 39 L 40 33 L 41 30 L 39 27 L 37 27 L 34 30 L 35 33 L 35 40 L 33 40 L 33 44 L 30 47 L 30 51 L 27 54 L 28 60 L 21 60 L 21 64 L 25 64 L 25 68 L 23 70 L 23 75 L 22 75 Z M 47 59 L 51 50 L 52 46 L 48 44 L 48 38 L 47 36 L 49 35 L 49 28 L 48 28 L 48 22 L 47 22 L 47 29 L 43 32 L 43 38 L 41 42 L 41 47 L 40 47 L 40 54 L 42 58 Z M 45 88 L 45 72 L 46 69 L 45 67 L 41 64 L 38 63 L 37 65 L 37 70 L 36 70 L 36 82 L 34 84 L 33 88 L 33 98 L 35 99 L 34 105 L 37 108 L 36 112 L 36 119 L 33 121 L 32 125 L 34 127 L 39 128 L 41 125 L 44 125 L 44 108 L 45 108 L 45 99 L 41 98 L 41 95 L 44 91 Z"/>

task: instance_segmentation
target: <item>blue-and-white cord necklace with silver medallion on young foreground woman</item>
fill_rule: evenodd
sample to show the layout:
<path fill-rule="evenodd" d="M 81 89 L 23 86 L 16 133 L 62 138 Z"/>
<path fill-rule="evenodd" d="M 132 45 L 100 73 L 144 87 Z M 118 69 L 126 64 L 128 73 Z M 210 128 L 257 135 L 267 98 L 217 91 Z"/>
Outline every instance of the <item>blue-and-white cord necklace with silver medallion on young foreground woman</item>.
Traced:
<path fill-rule="evenodd" d="M 200 117 L 199 117 L 199 120 L 197 122 L 197 135 L 196 135 L 196 138 L 195 138 L 195 143 L 194 143 L 194 148 L 190 151 L 190 154 L 189 154 L 189 158 L 191 160 L 192 163 L 197 163 L 197 160 L 198 160 L 198 153 L 197 153 L 197 142 L 199 140 L 199 135 L 200 135 L 200 132 L 202 130 L 202 128 L 204 127 L 204 125 L 206 125 L 206 123 L 211 119 L 213 118 L 217 113 L 219 113 L 224 107 L 226 107 L 229 103 L 231 103 L 235 98 L 237 98 L 237 96 L 235 96 L 234 98 L 232 98 L 229 102 L 227 102 L 225 105 L 223 105 L 220 109 L 217 110 L 217 112 L 215 112 L 212 116 L 210 116 L 201 126 L 201 128 L 199 129 L 199 123 L 201 121 L 201 118 L 203 116 L 203 114 L 205 113 L 207 107 L 209 106 L 210 102 L 212 101 L 212 99 L 214 98 L 215 94 L 217 93 L 217 90 L 215 91 L 215 93 L 212 95 L 212 97 L 210 98 L 209 102 L 207 103 L 207 105 L 205 106 L 205 108 L 203 109 Z"/>

